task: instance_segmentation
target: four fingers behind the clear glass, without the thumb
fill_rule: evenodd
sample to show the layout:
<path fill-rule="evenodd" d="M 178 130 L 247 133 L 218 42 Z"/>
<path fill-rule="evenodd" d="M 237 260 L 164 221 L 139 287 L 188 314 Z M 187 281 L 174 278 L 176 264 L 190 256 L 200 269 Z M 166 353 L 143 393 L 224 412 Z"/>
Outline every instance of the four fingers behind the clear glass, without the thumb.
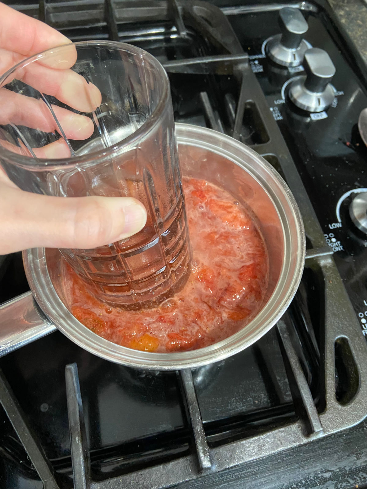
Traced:
<path fill-rule="evenodd" d="M 0 73 L 5 73 L 29 56 L 62 44 L 69 44 L 67 37 L 52 27 L 28 17 L 0 3 Z M 72 67 L 76 61 L 73 45 L 59 56 L 47 57 L 31 63 L 17 73 L 17 79 L 52 95 L 73 109 L 82 112 L 94 111 L 101 104 L 101 93 L 92 83 L 75 73 Z M 6 80 L 6 84 L 11 78 Z M 10 90 L 0 89 L 0 125 L 23 125 L 44 132 L 58 130 L 57 124 L 45 102 L 26 97 Z M 70 139 L 86 139 L 93 133 L 92 119 L 61 107 L 52 106 L 61 127 Z M 11 148 L 13 151 L 16 148 Z M 70 156 L 65 141 L 47 145 L 38 151 L 40 158 L 62 158 Z"/>

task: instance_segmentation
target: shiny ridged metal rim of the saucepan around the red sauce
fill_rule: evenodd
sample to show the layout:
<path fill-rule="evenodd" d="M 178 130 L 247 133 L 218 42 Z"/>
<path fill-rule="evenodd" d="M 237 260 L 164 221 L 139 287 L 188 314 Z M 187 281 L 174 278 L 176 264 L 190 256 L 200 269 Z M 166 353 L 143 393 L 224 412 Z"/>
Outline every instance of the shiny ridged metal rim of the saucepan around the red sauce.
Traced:
<path fill-rule="evenodd" d="M 262 185 L 277 210 L 284 238 L 282 269 L 272 295 L 249 324 L 228 338 L 197 350 L 175 353 L 132 350 L 98 336 L 71 314 L 51 282 L 46 266 L 45 248 L 33 248 L 23 252 L 25 273 L 33 295 L 48 319 L 62 333 L 94 355 L 115 363 L 146 370 L 196 368 L 220 361 L 251 346 L 275 325 L 288 308 L 298 289 L 305 261 L 305 232 L 298 205 L 288 186 L 270 163 L 251 148 L 225 134 L 189 124 L 177 123 L 175 127 L 178 144 L 197 146 L 212 151 L 228 158 L 250 173 Z M 211 138 L 211 142 L 202 141 L 200 136 L 204 135 Z M 249 161 L 239 160 L 234 156 L 232 150 L 237 150 Z M 251 161 L 258 164 L 257 168 L 266 171 L 266 181 L 264 178 L 262 178 L 264 182 L 259 181 L 261 178 L 256 175 L 256 168 L 251 166 Z M 268 185 L 268 188 L 265 188 L 264 185 Z M 288 209 L 283 207 L 277 199 L 279 195 L 286 200 Z M 294 239 L 291 235 L 291 226 L 296 235 Z M 296 253 L 293 266 L 290 263 L 292 253 Z"/>

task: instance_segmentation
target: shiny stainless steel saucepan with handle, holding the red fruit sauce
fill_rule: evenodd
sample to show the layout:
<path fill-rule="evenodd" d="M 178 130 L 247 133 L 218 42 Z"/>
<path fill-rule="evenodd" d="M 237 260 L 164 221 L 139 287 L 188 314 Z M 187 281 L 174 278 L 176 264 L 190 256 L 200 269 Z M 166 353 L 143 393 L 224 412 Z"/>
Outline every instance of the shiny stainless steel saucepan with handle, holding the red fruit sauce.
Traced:
<path fill-rule="evenodd" d="M 177 124 L 176 133 L 183 175 L 205 178 L 228 190 L 234 199 L 252 208 L 259 222 L 270 275 L 257 316 L 229 338 L 198 350 L 163 354 L 125 348 L 92 333 L 64 305 L 60 252 L 28 249 L 23 260 L 35 301 L 28 293 L 0 306 L 0 355 L 57 328 L 80 347 L 107 360 L 143 369 L 177 370 L 233 355 L 275 325 L 298 288 L 304 266 L 304 228 L 293 195 L 265 159 L 231 137 L 186 124 Z"/>

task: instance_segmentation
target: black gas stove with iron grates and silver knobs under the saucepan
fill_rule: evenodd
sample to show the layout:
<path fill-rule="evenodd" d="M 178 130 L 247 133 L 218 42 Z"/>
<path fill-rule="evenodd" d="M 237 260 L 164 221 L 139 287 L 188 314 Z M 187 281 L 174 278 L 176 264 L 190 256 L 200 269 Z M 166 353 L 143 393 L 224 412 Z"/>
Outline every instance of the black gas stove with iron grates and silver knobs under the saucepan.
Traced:
<path fill-rule="evenodd" d="M 298 292 L 252 347 L 192 371 L 115 365 L 56 331 L 1 341 L 1 487 L 243 487 L 260 481 L 256 467 L 284 472 L 292 457 L 299 473 L 262 487 L 323 487 L 299 478 L 299 454 L 317 470 L 311 450 L 326 457 L 332 440 L 353 445 L 354 425 L 367 464 L 366 67 L 326 2 L 215 3 L 13 6 L 72 41 L 146 49 L 169 75 L 177 122 L 227 133 L 275 167 L 307 235 Z M 0 266 L 1 300 L 27 290 L 19 254 Z M 254 468 L 237 486 L 241 467 Z M 344 467 L 340 487 L 367 480 L 363 470 Z"/>

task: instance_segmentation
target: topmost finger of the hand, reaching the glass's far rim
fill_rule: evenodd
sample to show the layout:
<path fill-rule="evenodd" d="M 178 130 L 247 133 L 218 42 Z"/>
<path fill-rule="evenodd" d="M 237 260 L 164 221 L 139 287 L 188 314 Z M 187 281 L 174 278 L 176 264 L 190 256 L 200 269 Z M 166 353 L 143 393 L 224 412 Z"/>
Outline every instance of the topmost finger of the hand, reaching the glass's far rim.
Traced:
<path fill-rule="evenodd" d="M 0 3 L 0 46 L 25 57 L 45 51 L 50 47 L 70 43 L 55 29 L 32 17 Z M 69 66 L 76 60 L 75 48 L 69 50 Z M 54 61 L 51 60 L 51 63 Z M 45 63 L 40 61 L 40 63 Z"/>

